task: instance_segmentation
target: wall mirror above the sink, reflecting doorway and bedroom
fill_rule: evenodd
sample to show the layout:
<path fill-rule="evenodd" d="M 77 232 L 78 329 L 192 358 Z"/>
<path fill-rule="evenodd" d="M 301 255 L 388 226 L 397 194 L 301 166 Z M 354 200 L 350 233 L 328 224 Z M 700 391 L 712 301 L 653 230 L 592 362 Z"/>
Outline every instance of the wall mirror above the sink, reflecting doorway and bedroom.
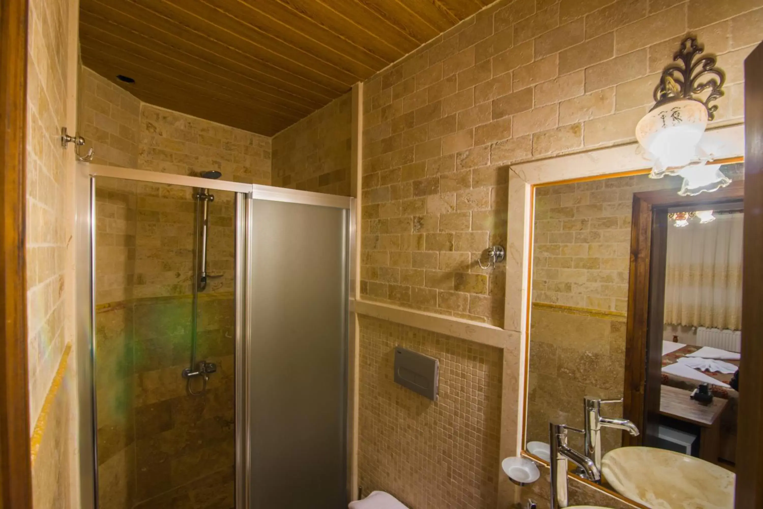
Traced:
<path fill-rule="evenodd" d="M 646 507 L 733 507 L 743 165 L 721 171 L 693 197 L 642 173 L 533 186 L 525 450 L 575 428 L 595 484 Z"/>

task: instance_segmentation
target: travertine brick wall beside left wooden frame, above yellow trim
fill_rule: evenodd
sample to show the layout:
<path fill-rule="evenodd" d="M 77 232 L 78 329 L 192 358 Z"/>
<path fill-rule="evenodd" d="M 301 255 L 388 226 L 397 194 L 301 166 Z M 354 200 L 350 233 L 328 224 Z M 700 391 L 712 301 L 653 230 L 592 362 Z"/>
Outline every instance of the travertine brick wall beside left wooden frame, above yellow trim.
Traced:
<path fill-rule="evenodd" d="M 66 16 L 63 0 L 29 5 L 27 52 L 27 327 L 29 417 L 40 414 L 64 338 Z"/>

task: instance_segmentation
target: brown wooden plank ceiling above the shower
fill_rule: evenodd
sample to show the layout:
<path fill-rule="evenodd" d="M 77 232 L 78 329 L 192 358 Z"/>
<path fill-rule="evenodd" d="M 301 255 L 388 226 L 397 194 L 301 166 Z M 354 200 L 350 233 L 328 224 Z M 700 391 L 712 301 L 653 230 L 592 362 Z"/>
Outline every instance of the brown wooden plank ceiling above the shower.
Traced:
<path fill-rule="evenodd" d="M 82 63 L 142 101 L 272 136 L 491 2 L 81 0 Z"/>

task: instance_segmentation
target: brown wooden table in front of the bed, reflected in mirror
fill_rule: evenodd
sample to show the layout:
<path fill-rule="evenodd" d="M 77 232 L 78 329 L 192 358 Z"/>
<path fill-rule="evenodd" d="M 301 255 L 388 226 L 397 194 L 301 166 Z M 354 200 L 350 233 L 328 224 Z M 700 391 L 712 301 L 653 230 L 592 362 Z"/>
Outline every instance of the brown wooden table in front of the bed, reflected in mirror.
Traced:
<path fill-rule="evenodd" d="M 662 385 L 660 414 L 683 420 L 700 428 L 700 458 L 718 462 L 720 449 L 720 414 L 729 400 L 713 398 L 710 404 L 701 404 L 689 398 L 691 391 Z"/>

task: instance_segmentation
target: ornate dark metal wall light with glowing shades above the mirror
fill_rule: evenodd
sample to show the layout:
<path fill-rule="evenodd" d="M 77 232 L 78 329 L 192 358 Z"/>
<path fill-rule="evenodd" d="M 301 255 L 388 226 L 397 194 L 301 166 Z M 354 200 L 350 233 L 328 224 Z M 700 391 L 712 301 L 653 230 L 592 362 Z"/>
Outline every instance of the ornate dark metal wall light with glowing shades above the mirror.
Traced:
<path fill-rule="evenodd" d="M 655 87 L 655 105 L 636 126 L 636 139 L 652 159 L 652 178 L 684 177 L 681 195 L 712 192 L 731 182 L 715 167 L 713 155 L 700 147 L 707 121 L 715 118 L 726 76 L 714 56 L 700 56 L 704 48 L 686 37 Z"/>

